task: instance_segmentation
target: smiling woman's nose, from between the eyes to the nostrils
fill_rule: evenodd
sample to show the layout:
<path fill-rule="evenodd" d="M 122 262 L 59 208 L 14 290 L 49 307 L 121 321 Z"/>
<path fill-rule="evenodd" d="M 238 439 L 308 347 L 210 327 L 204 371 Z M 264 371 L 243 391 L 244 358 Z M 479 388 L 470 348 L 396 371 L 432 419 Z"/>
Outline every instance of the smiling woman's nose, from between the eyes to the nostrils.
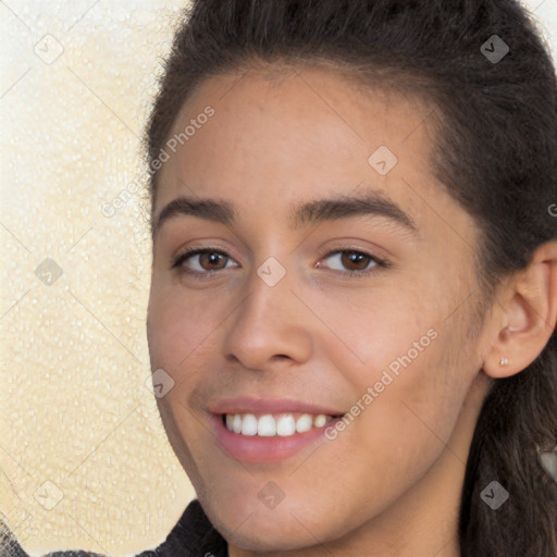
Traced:
<path fill-rule="evenodd" d="M 284 360 L 301 363 L 311 357 L 308 317 L 287 276 L 270 286 L 253 272 L 244 301 L 226 320 L 222 349 L 227 361 L 264 370 Z"/>

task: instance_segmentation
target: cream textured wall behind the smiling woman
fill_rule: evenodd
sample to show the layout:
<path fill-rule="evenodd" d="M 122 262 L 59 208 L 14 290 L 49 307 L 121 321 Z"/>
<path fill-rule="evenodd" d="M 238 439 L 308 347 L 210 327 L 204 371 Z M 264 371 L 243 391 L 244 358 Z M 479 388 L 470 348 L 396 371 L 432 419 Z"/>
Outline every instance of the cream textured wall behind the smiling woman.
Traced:
<path fill-rule="evenodd" d="M 0 511 L 32 555 L 154 547 L 194 496 L 145 383 L 138 190 L 184 3 L 0 2 Z M 557 0 L 529 7 L 555 48 Z"/>

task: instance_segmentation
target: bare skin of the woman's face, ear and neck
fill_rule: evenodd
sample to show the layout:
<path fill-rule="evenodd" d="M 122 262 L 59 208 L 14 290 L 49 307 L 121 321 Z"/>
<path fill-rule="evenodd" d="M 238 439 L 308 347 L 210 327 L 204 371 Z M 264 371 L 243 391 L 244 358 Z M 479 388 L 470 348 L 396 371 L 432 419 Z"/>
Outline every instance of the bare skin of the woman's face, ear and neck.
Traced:
<path fill-rule="evenodd" d="M 238 220 L 164 222 L 147 321 L 152 369 L 175 381 L 158 399 L 162 420 L 203 509 L 231 557 L 458 556 L 460 490 L 490 382 L 528 366 L 555 327 L 555 243 L 484 314 L 474 221 L 431 174 L 430 111 L 418 99 L 364 92 L 325 67 L 252 70 L 203 82 L 172 134 L 207 106 L 214 115 L 162 168 L 153 215 L 189 195 L 233 202 Z M 368 163 L 381 145 L 398 158 L 385 176 Z M 371 190 L 416 232 L 377 215 L 289 226 L 293 206 Z M 373 260 L 320 255 L 346 245 L 391 267 L 349 277 Z M 227 257 L 193 256 L 180 272 L 172 261 L 187 246 Z M 273 287 L 257 274 L 269 257 L 286 270 Z M 213 268 L 207 280 L 184 272 Z M 248 465 L 210 431 L 207 405 L 221 395 L 348 412 L 431 330 L 435 339 L 334 441 Z M 274 509 L 258 498 L 269 481 L 285 494 Z"/>

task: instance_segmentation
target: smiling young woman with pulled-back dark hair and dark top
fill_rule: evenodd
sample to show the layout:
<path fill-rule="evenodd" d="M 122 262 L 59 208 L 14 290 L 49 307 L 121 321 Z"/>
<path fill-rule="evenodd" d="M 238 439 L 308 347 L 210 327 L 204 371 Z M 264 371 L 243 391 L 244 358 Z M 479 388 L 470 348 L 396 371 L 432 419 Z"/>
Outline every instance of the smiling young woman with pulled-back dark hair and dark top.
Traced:
<path fill-rule="evenodd" d="M 555 557 L 557 89 L 521 5 L 195 1 L 147 147 L 198 499 L 143 555 Z"/>

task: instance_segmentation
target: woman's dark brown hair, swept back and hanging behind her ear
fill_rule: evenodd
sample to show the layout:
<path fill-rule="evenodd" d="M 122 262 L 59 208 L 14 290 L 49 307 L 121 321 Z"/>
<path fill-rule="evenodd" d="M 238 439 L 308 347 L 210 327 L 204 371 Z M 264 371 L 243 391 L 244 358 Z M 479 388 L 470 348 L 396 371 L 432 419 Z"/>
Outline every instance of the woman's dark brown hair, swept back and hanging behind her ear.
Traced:
<path fill-rule="evenodd" d="M 497 61 L 485 55 L 495 35 L 508 47 Z M 430 99 L 438 122 L 432 172 L 478 223 L 487 299 L 557 238 L 555 69 L 517 1 L 194 0 L 147 126 L 152 207 L 153 162 L 184 102 L 203 79 L 261 62 L 333 63 L 370 87 Z M 536 466 L 536 447 L 553 447 L 556 435 L 554 332 L 539 358 L 496 380 L 484 401 L 462 488 L 462 557 L 557 555 L 557 490 Z M 496 511 L 480 497 L 494 480 L 510 494 Z"/>

